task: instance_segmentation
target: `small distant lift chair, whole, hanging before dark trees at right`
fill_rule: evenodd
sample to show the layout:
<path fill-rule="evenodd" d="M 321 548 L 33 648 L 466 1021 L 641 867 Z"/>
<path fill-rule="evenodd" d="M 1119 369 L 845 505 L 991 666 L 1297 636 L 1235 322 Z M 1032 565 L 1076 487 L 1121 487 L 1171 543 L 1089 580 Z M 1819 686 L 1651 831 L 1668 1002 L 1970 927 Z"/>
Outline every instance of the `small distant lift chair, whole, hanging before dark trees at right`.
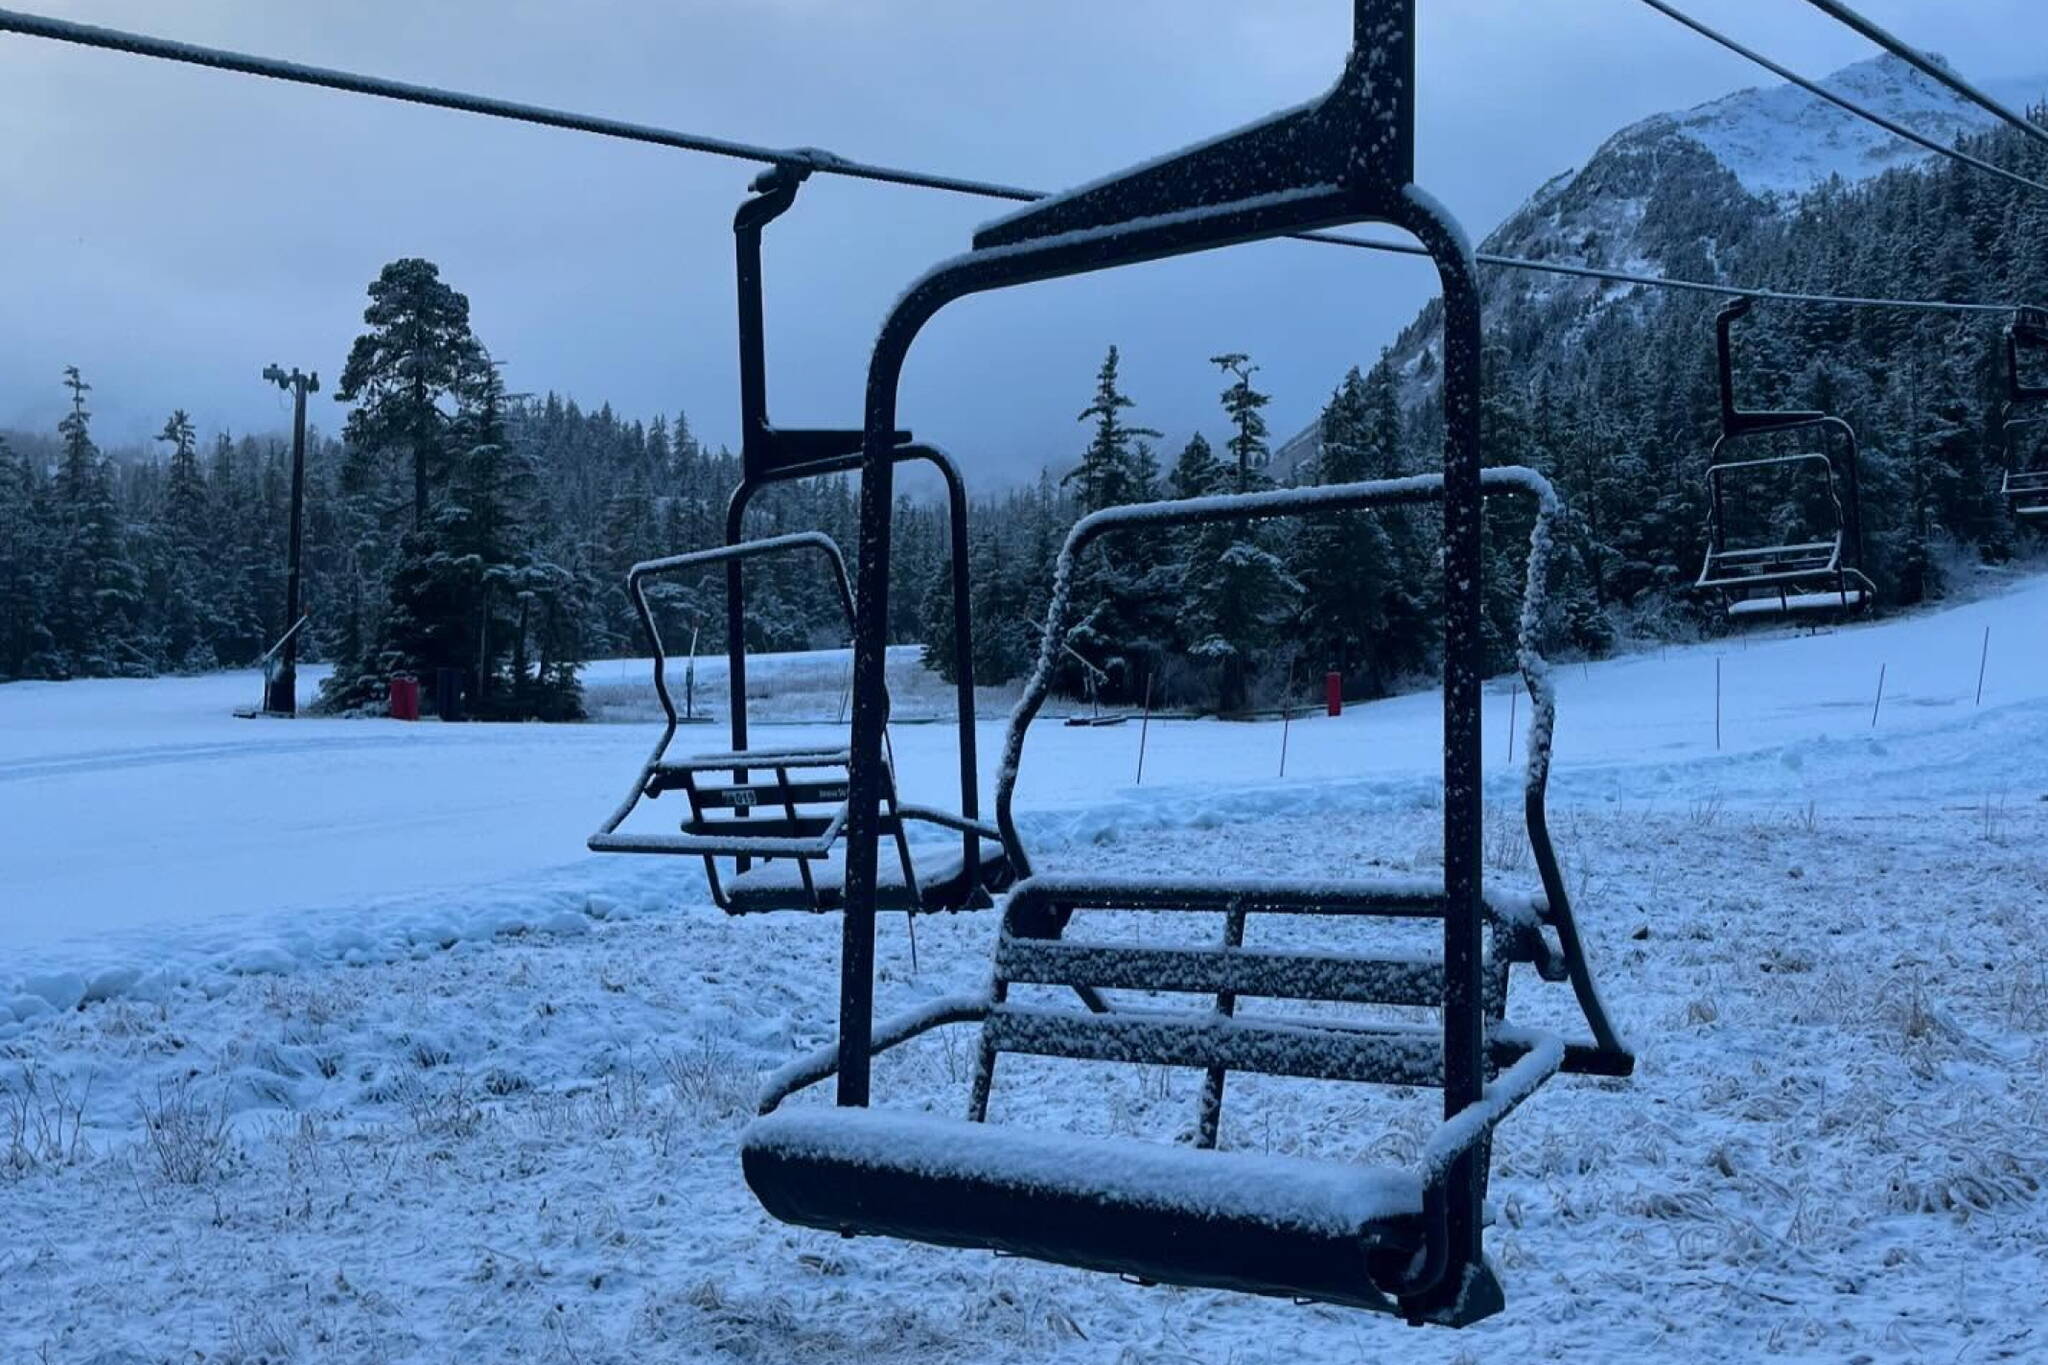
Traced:
<path fill-rule="evenodd" d="M 1858 493 L 1855 428 L 1823 411 L 1749 411 L 1735 403 L 1735 354 L 1731 329 L 1747 317 L 1753 299 L 1737 299 L 1714 317 L 1714 358 L 1720 370 L 1720 438 L 1708 458 L 1708 542 L 1700 561 L 1698 591 L 1718 591 L 1731 620 L 1745 616 L 1784 616 L 1802 608 L 1802 598 L 1833 596 L 1831 604 L 1843 616 L 1866 608 L 1876 585 L 1864 575 L 1864 516 Z M 1825 430 L 1841 438 L 1843 454 L 1825 452 L 1774 454 L 1755 460 L 1724 460 L 1722 452 L 1739 440 L 1776 432 Z M 1745 546 L 1726 544 L 1726 479 L 1761 469 L 1819 465 L 1835 510 L 1831 540 Z M 1774 604 L 1776 598 L 1776 604 Z"/>

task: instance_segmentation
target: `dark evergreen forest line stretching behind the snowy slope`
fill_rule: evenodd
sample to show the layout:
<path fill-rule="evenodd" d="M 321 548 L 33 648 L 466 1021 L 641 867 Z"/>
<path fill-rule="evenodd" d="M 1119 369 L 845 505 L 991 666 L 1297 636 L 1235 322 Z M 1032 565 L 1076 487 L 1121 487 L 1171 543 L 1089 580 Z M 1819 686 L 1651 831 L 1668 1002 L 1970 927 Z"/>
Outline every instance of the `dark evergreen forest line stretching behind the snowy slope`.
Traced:
<path fill-rule="evenodd" d="M 2013 133 L 1970 149 L 2021 174 L 2048 156 Z M 1855 295 L 2048 299 L 2048 207 L 1948 164 L 1821 186 L 1792 213 L 1718 166 L 1657 223 L 1665 266 L 1696 278 Z M 1702 246 L 1704 244 L 1704 246 Z M 1708 246 L 1712 250 L 1708 250 Z M 508 395 L 469 305 L 424 260 L 387 266 L 342 368 L 338 436 L 307 469 L 305 651 L 322 702 L 375 708 L 391 673 L 463 669 L 479 714 L 573 716 L 586 657 L 645 653 L 621 591 L 637 559 L 717 544 L 739 463 L 682 413 L 637 422 L 559 395 Z M 1489 301 L 1491 303 L 1491 301 Z M 1688 585 L 1706 526 L 1716 391 L 1712 311 L 1694 295 L 1579 291 L 1489 307 L 1485 450 L 1561 489 L 1567 520 L 1544 622 L 1550 647 L 1718 628 Z M 1436 469 L 1436 309 L 1341 379 L 1307 456 L 1272 465 L 1266 393 L 1243 354 L 1214 358 L 1217 440 L 1163 452 L 1112 346 L 1079 411 L 1077 458 L 971 505 L 973 663 L 1016 679 L 1038 651 L 1053 559 L 1075 518 L 1151 497 L 1341 483 Z M 1862 438 L 1866 569 L 1886 604 L 1944 591 L 1964 559 L 2023 548 L 1995 495 L 1999 319 L 1761 305 L 1737 334 L 1745 403 L 1821 407 Z M 1569 338 L 1569 344 L 1561 344 Z M 244 667 L 283 620 L 287 450 L 203 442 L 170 413 L 154 452 L 104 454 L 90 383 L 66 370 L 55 434 L 0 440 L 0 677 Z M 1767 528 L 1825 520 L 1810 485 L 1763 489 Z M 944 505 L 903 497 L 891 557 L 893 641 L 952 671 Z M 1511 667 L 1526 522 L 1489 514 L 1489 665 Z M 748 534 L 823 530 L 856 553 L 850 479 L 778 485 Z M 1241 710 L 1337 669 L 1376 696 L 1436 667 L 1436 514 L 1139 530 L 1079 569 L 1059 686 L 1118 704 Z M 801 561 L 748 569 L 748 647 L 846 639 L 831 585 Z M 672 651 L 725 647 L 723 575 L 655 589 Z"/>

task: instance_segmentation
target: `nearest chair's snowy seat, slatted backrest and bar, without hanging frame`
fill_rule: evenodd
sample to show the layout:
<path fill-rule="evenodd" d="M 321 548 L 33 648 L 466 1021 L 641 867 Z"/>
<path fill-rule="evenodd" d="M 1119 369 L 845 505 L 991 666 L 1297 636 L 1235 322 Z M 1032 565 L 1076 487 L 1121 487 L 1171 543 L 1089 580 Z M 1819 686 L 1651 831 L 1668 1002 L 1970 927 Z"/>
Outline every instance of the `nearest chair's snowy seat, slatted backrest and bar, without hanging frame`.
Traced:
<path fill-rule="evenodd" d="M 1411 1320 L 1466 1324 L 1501 1308 L 1483 1257 L 1450 1250 L 1446 1181 L 1454 1162 L 1485 1162 L 1493 1128 L 1559 1070 L 1628 1074 L 1632 1058 L 1610 1025 L 1579 943 L 1544 821 L 1554 694 L 1534 647 L 1556 497 L 1526 469 L 1489 469 L 1491 493 L 1536 501 L 1520 661 L 1532 698 L 1524 810 L 1542 880 L 1538 894 L 1487 890 L 1479 999 L 1460 999 L 1440 954 L 1364 956 L 1247 948 L 1251 915 L 1444 921 L 1444 880 L 1339 882 L 1280 878 L 1153 880 L 1026 876 L 1004 907 L 987 997 L 946 999 L 877 1029 L 883 1052 L 948 1023 L 979 1021 L 981 1048 L 965 1119 L 782 1101 L 834 1074 L 836 1048 L 799 1058 L 764 1091 L 764 1117 L 743 1140 L 748 1183 L 784 1222 L 844 1234 L 987 1248 L 1114 1271 L 1143 1281 L 1323 1300 Z M 1094 538 L 1135 526 L 1303 516 L 1442 497 L 1440 475 L 1237 497 L 1112 508 L 1083 518 L 1059 559 L 1038 669 L 1008 733 L 997 823 L 1028 870 L 1012 819 L 1024 735 L 1051 690 L 1065 632 L 1073 565 Z M 1223 917 L 1212 945 L 1090 943 L 1067 937 L 1090 911 Z M 1505 1021 L 1513 964 L 1569 980 L 1591 1040 Z M 1073 988 L 1020 1001 L 1016 986 Z M 1104 990 L 1206 997 L 1194 1009 L 1108 1007 Z M 1260 1009 L 1247 1007 L 1260 1001 Z M 1329 1011 L 1274 1013 L 1268 1003 L 1477 1009 L 1485 1087 L 1446 1117 L 1413 1166 L 1382 1169 L 1214 1150 L 1225 1076 L 1444 1087 L 1444 1029 L 1378 1023 Z M 1001 1054 L 1184 1066 L 1204 1072 L 1190 1146 L 1073 1138 L 987 1124 Z M 1483 1181 L 1481 1181 L 1483 1189 Z"/>

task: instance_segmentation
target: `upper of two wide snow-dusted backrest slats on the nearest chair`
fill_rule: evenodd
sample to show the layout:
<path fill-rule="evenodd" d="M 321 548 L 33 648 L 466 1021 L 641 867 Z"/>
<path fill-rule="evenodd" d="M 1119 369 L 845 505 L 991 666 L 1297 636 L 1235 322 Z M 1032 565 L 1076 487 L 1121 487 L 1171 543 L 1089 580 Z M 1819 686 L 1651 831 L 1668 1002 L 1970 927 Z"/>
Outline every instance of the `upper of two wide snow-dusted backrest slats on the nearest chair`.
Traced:
<path fill-rule="evenodd" d="M 1358 1005 L 1438 1005 L 1440 958 L 1364 958 L 1272 948 L 1151 948 L 1004 937 L 995 976 L 1042 986 L 1198 990 Z"/>

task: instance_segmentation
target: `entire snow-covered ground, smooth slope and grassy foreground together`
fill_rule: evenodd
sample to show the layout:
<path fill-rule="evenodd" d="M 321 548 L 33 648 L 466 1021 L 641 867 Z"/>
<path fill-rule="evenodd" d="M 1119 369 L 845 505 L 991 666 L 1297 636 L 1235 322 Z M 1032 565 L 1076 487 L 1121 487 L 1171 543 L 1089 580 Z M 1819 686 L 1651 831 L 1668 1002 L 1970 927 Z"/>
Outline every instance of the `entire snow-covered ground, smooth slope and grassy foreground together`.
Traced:
<path fill-rule="evenodd" d="M 580 853 L 645 724 L 0 688 L 0 1359 L 2048 1361 L 2044 620 L 2028 579 L 1559 669 L 1552 829 L 1640 1066 L 1501 1128 L 1507 1312 L 1466 1332 L 768 1220 L 737 1134 L 831 1038 L 838 921 L 727 919 L 690 860 Z M 1509 706 L 1489 690 L 1501 886 L 1534 880 Z M 1432 872 L 1434 696 L 1296 720 L 1286 778 L 1280 733 L 1155 720 L 1135 788 L 1137 724 L 1044 722 L 1034 855 Z M 893 741 L 905 798 L 948 800 L 950 726 Z M 993 937 L 924 919 L 913 958 L 885 917 L 881 1013 L 981 988 Z M 1563 1025 L 1569 993 L 1524 976 L 1511 1013 Z M 877 1093 L 956 1117 L 971 1056 L 971 1029 L 907 1044 Z M 1171 1140 L 1196 1087 L 1012 1058 L 993 1113 Z M 1233 1078 L 1223 1144 L 1403 1164 L 1436 1119 L 1434 1093 Z"/>

